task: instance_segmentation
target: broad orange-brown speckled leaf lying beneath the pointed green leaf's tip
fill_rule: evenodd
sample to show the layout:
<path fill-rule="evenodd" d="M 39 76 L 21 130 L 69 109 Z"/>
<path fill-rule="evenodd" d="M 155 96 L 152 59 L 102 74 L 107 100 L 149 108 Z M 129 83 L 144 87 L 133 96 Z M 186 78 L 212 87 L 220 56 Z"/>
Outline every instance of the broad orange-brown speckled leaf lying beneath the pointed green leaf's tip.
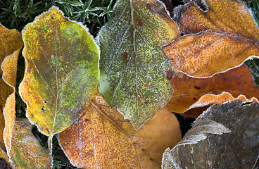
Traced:
<path fill-rule="evenodd" d="M 65 154 L 79 168 L 160 168 L 163 151 L 180 139 L 179 123 L 166 108 L 136 131 L 101 95 L 59 134 Z"/>

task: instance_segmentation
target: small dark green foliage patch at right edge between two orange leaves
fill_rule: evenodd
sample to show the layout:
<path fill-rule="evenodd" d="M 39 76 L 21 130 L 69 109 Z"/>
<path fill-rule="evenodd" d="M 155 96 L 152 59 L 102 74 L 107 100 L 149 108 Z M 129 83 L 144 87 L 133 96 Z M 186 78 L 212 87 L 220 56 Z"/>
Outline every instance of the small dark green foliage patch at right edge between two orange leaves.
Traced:
<path fill-rule="evenodd" d="M 252 71 L 253 82 L 259 86 L 259 58 L 253 58 L 244 63 Z"/>

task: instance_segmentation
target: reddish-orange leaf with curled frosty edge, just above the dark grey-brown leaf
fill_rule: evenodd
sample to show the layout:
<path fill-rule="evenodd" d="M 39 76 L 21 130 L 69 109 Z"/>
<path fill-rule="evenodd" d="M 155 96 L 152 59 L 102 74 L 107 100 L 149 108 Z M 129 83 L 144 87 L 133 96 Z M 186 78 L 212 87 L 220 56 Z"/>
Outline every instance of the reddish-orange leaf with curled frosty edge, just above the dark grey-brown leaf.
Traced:
<path fill-rule="evenodd" d="M 222 104 L 235 99 L 245 101 L 244 96 L 251 101 L 257 101 L 253 96 L 259 96 L 259 87 L 253 83 L 251 70 L 245 65 L 205 79 L 175 75 L 171 82 L 175 92 L 166 106 L 172 112 L 187 112 L 188 115 L 184 114 L 194 118 L 203 112 L 196 107 Z M 240 96 L 241 94 L 244 96 Z M 191 108 L 195 109 L 189 113 Z"/>

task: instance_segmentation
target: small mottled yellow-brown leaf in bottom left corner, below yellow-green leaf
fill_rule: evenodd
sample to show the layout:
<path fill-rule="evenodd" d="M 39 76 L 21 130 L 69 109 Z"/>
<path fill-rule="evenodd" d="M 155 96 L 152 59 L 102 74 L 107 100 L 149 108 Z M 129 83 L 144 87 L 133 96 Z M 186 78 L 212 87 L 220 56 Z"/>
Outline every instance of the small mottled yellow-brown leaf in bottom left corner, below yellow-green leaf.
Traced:
<path fill-rule="evenodd" d="M 42 148 L 39 140 L 31 132 L 32 125 L 27 119 L 15 120 L 11 138 L 11 165 L 13 168 L 51 168 L 49 150 Z"/>

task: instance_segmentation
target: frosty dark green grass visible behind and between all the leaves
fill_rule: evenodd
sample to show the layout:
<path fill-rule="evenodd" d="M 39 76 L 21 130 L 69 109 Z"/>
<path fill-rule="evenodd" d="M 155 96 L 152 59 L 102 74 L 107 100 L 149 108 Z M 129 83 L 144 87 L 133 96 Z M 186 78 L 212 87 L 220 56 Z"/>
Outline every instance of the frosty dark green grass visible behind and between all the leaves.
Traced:
<path fill-rule="evenodd" d="M 255 20 L 259 20 L 259 0 L 248 0 L 246 1 L 248 6 L 250 6 L 255 15 Z M 105 23 L 110 19 L 115 0 L 0 0 L 0 23 L 9 29 L 15 28 L 16 30 L 23 30 L 23 27 L 27 23 L 31 23 L 34 18 L 49 10 L 51 6 L 57 6 L 63 11 L 66 17 L 70 20 L 77 20 L 84 25 L 87 25 L 91 35 L 96 37 L 97 32 L 101 29 Z M 178 4 L 183 4 L 183 1 L 172 0 L 172 4 L 177 6 Z M 257 65 L 258 64 L 258 65 Z M 256 75 L 259 76 L 259 62 L 249 61 L 247 65 L 253 67 Z M 25 117 L 26 105 L 18 94 L 18 84 L 23 80 L 25 70 L 24 58 L 20 54 L 18 60 L 18 72 L 17 72 L 17 85 L 16 85 L 16 116 Z M 257 72 L 256 72 L 257 71 Z M 255 74 L 254 73 L 254 74 Z M 258 78 L 256 79 L 258 80 Z M 181 115 L 177 115 L 180 123 L 182 133 L 184 134 L 191 127 L 191 123 L 194 119 L 182 118 Z M 44 136 L 38 132 L 37 127 L 32 128 L 32 132 L 39 139 L 39 142 L 46 149 L 48 148 L 47 140 L 48 137 Z M 69 163 L 68 159 L 63 154 L 61 147 L 58 144 L 58 139 L 53 137 L 53 168 L 74 168 Z"/>

